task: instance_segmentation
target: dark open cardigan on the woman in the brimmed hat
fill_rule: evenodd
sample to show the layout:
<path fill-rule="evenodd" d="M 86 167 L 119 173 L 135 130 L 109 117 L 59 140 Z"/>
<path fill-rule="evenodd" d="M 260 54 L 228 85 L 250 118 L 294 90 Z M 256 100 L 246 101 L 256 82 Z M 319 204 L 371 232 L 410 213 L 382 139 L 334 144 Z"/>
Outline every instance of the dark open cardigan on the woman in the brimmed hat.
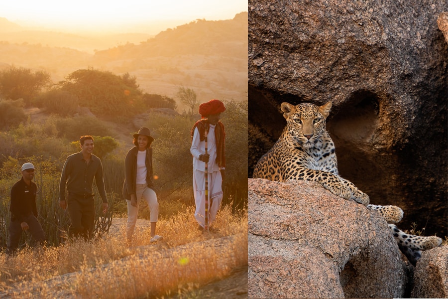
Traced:
<path fill-rule="evenodd" d="M 137 189 L 137 152 L 138 148 L 133 147 L 129 149 L 124 160 L 124 183 L 123 183 L 123 198 L 130 200 L 130 195 L 135 194 Z M 152 148 L 146 149 L 146 183 L 148 187 L 154 189 L 154 182 L 152 180 Z"/>

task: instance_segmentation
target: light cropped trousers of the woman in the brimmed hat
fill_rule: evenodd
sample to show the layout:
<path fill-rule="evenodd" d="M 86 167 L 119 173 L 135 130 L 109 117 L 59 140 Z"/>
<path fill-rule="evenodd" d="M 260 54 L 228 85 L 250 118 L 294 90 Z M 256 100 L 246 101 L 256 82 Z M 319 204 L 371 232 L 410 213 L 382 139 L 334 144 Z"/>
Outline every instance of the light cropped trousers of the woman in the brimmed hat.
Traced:
<path fill-rule="evenodd" d="M 127 238 L 131 239 L 134 233 L 135 223 L 137 223 L 138 207 L 140 202 L 144 199 L 148 203 L 149 207 L 149 221 L 157 222 L 159 217 L 159 203 L 157 202 L 157 195 L 153 189 L 149 188 L 146 184 L 137 185 L 137 190 L 135 192 L 137 198 L 137 206 L 131 205 L 130 200 L 127 202 Z"/>

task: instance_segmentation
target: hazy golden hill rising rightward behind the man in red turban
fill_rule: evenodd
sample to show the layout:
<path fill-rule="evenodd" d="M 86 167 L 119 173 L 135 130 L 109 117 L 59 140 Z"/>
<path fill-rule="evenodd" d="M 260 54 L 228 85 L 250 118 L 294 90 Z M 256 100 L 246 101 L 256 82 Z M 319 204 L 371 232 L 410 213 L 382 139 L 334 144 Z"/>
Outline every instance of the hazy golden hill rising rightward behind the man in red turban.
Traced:
<path fill-rule="evenodd" d="M 127 71 L 149 92 L 176 98 L 180 86 L 200 102 L 212 98 L 247 100 L 247 12 L 231 20 L 196 20 L 160 32 L 140 44 L 94 55 L 94 65 Z"/>

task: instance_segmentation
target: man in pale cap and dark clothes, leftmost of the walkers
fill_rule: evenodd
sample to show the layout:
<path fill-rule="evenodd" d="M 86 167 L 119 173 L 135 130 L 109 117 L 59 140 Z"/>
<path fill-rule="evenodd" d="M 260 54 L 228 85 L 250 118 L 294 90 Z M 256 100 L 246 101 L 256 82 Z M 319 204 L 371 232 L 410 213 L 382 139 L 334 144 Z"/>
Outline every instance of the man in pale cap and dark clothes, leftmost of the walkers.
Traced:
<path fill-rule="evenodd" d="M 22 178 L 11 188 L 8 254 L 17 249 L 22 231 L 28 230 L 36 242 L 41 245 L 45 243 L 45 234 L 37 220 L 37 187 L 31 181 L 34 177 L 34 165 L 29 162 L 24 163 L 21 170 Z"/>

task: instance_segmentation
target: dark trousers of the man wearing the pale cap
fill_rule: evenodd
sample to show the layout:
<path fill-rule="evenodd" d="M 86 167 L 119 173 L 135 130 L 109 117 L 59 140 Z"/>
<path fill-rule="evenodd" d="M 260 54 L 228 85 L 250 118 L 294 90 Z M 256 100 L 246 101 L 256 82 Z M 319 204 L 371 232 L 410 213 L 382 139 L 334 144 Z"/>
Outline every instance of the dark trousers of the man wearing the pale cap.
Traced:
<path fill-rule="evenodd" d="M 42 227 L 40 226 L 39 221 L 34 216 L 34 214 L 30 213 L 28 216 L 26 216 L 23 219 L 23 222 L 26 222 L 26 224 L 28 224 L 28 227 L 29 227 L 28 230 L 34 239 L 33 241 L 37 242 L 39 244 L 44 244 L 45 243 L 45 234 L 42 230 Z M 8 228 L 9 242 L 8 242 L 8 247 L 7 247 L 8 253 L 14 252 L 19 245 L 20 237 L 22 236 L 22 232 L 23 232 L 22 227 L 20 225 L 21 223 L 22 223 L 22 221 L 19 221 L 19 220 L 14 220 L 14 221 L 9 222 L 9 228 Z"/>

